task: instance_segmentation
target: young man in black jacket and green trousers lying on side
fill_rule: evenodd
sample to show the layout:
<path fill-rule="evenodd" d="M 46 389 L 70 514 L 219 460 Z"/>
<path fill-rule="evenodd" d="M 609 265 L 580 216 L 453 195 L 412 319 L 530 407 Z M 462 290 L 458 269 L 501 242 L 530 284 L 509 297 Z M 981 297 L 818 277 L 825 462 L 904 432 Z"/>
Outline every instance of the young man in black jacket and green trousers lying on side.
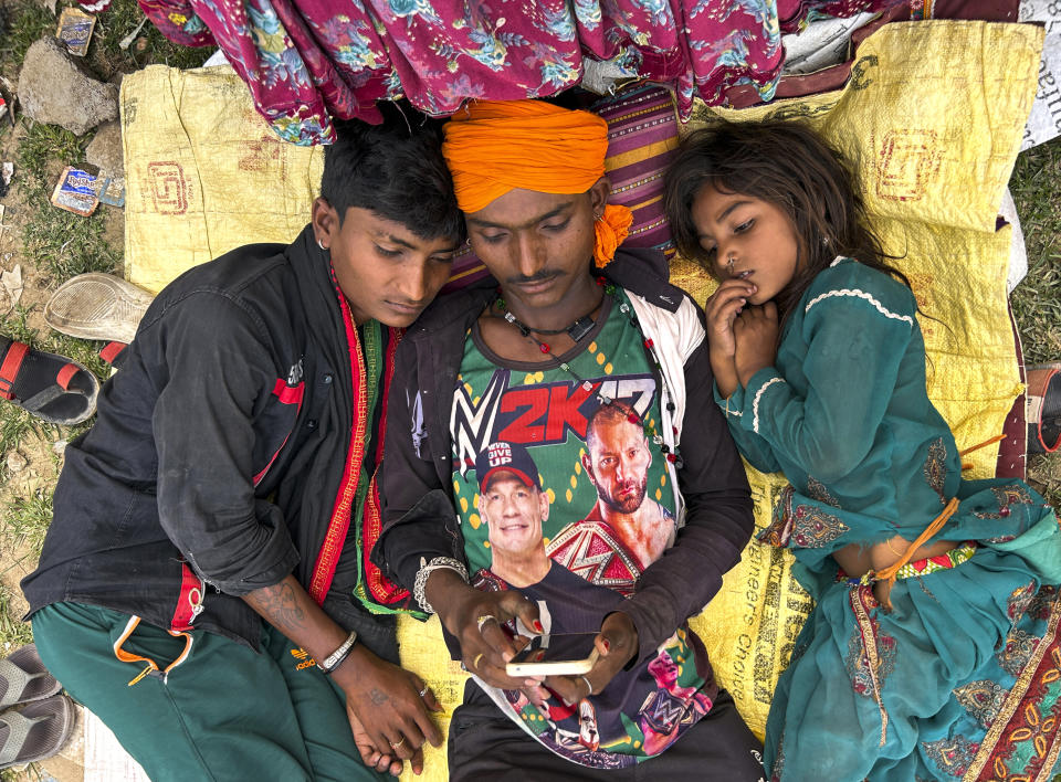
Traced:
<path fill-rule="evenodd" d="M 311 224 L 162 290 L 66 450 L 36 644 L 156 782 L 419 771 L 440 741 L 361 557 L 395 349 L 463 240 L 439 144 L 344 128 Z"/>

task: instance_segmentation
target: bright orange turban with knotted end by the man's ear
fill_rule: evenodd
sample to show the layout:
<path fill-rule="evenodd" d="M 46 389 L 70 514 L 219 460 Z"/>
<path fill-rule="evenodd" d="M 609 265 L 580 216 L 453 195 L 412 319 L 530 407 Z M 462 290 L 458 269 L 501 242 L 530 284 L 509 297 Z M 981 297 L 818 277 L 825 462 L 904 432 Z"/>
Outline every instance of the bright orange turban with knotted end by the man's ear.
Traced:
<path fill-rule="evenodd" d="M 456 202 L 477 212 L 510 190 L 584 193 L 605 176 L 608 124 L 542 101 L 474 101 L 444 128 L 442 155 Z M 593 257 L 611 261 L 633 215 L 609 205 L 597 220 Z"/>

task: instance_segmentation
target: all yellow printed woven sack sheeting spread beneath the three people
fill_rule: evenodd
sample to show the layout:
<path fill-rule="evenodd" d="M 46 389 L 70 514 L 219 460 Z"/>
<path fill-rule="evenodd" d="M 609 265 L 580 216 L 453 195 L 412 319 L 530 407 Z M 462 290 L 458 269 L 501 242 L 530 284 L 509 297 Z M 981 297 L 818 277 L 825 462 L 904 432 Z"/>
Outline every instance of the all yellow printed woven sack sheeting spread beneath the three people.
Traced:
<path fill-rule="evenodd" d="M 922 310 L 929 393 L 959 446 L 999 433 L 1020 391 L 1006 311 L 1010 231 L 995 231 L 1002 191 L 1036 88 L 1042 31 L 980 22 L 889 24 L 866 39 L 839 92 L 724 112 L 694 125 L 806 119 L 858 161 L 874 225 L 903 258 Z M 150 66 L 122 86 L 127 177 L 126 274 L 153 290 L 185 270 L 250 242 L 288 242 L 307 222 L 322 152 L 283 145 L 254 114 L 229 68 Z M 676 262 L 674 282 L 703 300 L 711 285 Z M 708 393 L 704 389 L 703 393 Z M 973 455 L 992 474 L 996 448 Z M 768 521 L 782 484 L 749 471 L 756 522 Z M 761 736 L 770 693 L 810 601 L 787 553 L 750 543 L 694 625 L 715 670 Z M 437 619 L 399 622 L 402 659 L 447 707 L 463 674 L 449 661 Z M 413 779 L 407 772 L 408 779 Z M 427 752 L 424 780 L 445 778 Z"/>

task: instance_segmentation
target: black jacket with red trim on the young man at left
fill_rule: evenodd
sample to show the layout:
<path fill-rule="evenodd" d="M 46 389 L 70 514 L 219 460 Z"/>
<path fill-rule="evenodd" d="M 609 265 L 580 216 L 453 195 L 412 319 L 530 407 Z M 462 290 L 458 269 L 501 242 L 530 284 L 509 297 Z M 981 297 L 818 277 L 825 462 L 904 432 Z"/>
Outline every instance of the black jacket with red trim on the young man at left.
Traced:
<path fill-rule="evenodd" d="M 328 256 L 307 226 L 187 272 L 118 366 L 95 425 L 66 448 L 40 566 L 22 582 L 30 613 L 76 601 L 256 646 L 260 620 L 238 595 L 293 570 L 309 582 L 349 446 Z M 333 589 L 356 580 L 347 549 Z"/>

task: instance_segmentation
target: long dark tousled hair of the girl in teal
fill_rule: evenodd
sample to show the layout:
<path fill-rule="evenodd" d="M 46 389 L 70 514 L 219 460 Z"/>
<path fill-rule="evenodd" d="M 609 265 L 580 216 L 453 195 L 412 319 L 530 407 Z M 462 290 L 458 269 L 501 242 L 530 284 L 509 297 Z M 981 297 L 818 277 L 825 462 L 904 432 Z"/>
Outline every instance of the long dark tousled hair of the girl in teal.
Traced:
<path fill-rule="evenodd" d="M 792 282 L 776 297 L 787 318 L 810 282 L 838 255 L 910 282 L 868 228 L 862 193 L 841 155 L 818 134 L 797 121 L 722 123 L 687 135 L 666 172 L 663 207 L 679 252 L 711 263 L 693 224 L 692 207 L 704 186 L 743 193 L 779 208 L 796 229 L 802 263 Z"/>

